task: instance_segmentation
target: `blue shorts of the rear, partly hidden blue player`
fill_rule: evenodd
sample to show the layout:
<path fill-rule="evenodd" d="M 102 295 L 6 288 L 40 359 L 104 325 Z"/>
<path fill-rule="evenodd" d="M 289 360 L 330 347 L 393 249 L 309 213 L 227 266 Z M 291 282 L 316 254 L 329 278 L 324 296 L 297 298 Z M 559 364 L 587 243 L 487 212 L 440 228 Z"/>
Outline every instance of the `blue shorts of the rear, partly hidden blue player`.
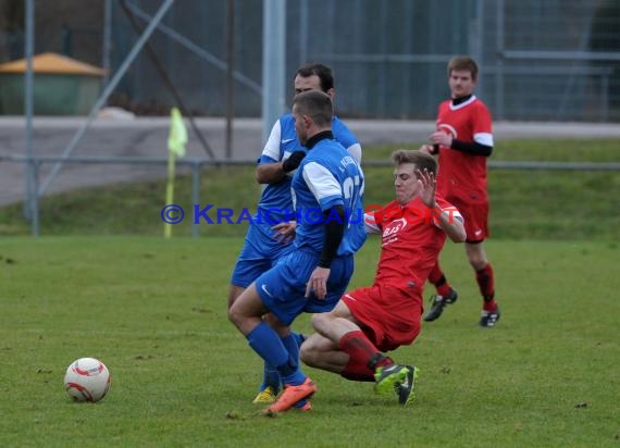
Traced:
<path fill-rule="evenodd" d="M 231 284 L 247 288 L 293 249 L 293 244 L 283 245 L 273 238 L 270 225 L 250 224 Z"/>

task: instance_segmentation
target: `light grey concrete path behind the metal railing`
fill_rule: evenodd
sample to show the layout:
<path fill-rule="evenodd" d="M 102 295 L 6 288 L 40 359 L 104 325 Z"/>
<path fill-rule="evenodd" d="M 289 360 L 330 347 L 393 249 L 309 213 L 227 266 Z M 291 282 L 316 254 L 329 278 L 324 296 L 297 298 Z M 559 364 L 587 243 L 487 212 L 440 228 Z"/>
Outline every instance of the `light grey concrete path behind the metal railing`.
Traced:
<path fill-rule="evenodd" d="M 35 157 L 60 157 L 84 119 L 36 117 L 34 120 L 33 152 Z M 425 141 L 433 122 L 347 120 L 347 125 L 364 145 Z M 202 132 L 218 159 L 225 158 L 225 122 L 223 119 L 198 119 Z M 169 120 L 140 117 L 134 120 L 98 119 L 76 146 L 74 157 L 150 157 L 166 158 Z M 497 123 L 496 139 L 509 138 L 619 138 L 618 124 L 582 123 Z M 237 119 L 234 122 L 233 159 L 252 161 L 260 154 L 261 122 Z M 188 155 L 208 159 L 198 139 L 189 132 Z M 0 206 L 24 198 L 23 166 L 2 159 L 25 155 L 25 120 L 22 116 L 0 117 Z M 41 167 L 41 181 L 50 164 Z M 165 176 L 165 165 L 65 164 L 50 184 L 47 194 L 70 189 L 132 182 Z"/>

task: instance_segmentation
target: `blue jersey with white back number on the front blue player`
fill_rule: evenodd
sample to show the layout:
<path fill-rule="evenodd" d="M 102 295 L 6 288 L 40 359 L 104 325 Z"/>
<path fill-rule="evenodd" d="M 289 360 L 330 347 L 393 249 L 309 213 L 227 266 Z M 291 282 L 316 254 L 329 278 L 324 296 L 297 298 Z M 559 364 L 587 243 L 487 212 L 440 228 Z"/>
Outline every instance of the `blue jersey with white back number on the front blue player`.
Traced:
<path fill-rule="evenodd" d="M 323 250 L 325 222 L 337 216 L 322 212 L 343 206 L 346 210 L 345 235 L 338 257 L 355 253 L 365 239 L 360 165 L 336 140 L 319 140 L 301 161 L 293 177 L 293 200 L 297 215 L 296 249 Z"/>

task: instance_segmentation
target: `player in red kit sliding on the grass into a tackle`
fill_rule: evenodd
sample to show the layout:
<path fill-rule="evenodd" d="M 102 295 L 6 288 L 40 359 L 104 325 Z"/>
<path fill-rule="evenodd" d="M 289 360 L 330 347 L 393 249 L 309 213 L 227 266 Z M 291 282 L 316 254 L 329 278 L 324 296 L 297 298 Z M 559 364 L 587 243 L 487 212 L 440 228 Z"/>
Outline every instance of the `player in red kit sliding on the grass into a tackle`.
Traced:
<path fill-rule="evenodd" d="M 466 232 L 458 210 L 435 197 L 434 158 L 411 150 L 392 158 L 396 200 L 364 215 L 367 232 L 382 234 L 374 283 L 345 294 L 331 312 L 312 316 L 317 333 L 301 346 L 301 359 L 348 379 L 374 381 L 377 393 L 396 390 L 400 405 L 407 405 L 417 369 L 395 364 L 383 352 L 416 339 L 424 283 L 446 235 L 462 242 Z"/>

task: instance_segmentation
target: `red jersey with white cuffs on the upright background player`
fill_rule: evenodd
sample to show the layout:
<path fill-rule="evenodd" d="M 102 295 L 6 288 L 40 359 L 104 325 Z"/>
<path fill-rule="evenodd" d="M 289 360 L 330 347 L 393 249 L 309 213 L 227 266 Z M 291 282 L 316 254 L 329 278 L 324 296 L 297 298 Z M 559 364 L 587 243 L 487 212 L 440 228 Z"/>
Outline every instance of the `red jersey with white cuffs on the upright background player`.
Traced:
<path fill-rule="evenodd" d="M 437 129 L 460 141 L 493 146 L 491 112 L 473 95 L 458 105 L 452 105 L 451 100 L 442 102 Z M 438 162 L 438 194 L 447 200 L 457 198 L 466 203 L 487 202 L 486 157 L 441 147 Z"/>

